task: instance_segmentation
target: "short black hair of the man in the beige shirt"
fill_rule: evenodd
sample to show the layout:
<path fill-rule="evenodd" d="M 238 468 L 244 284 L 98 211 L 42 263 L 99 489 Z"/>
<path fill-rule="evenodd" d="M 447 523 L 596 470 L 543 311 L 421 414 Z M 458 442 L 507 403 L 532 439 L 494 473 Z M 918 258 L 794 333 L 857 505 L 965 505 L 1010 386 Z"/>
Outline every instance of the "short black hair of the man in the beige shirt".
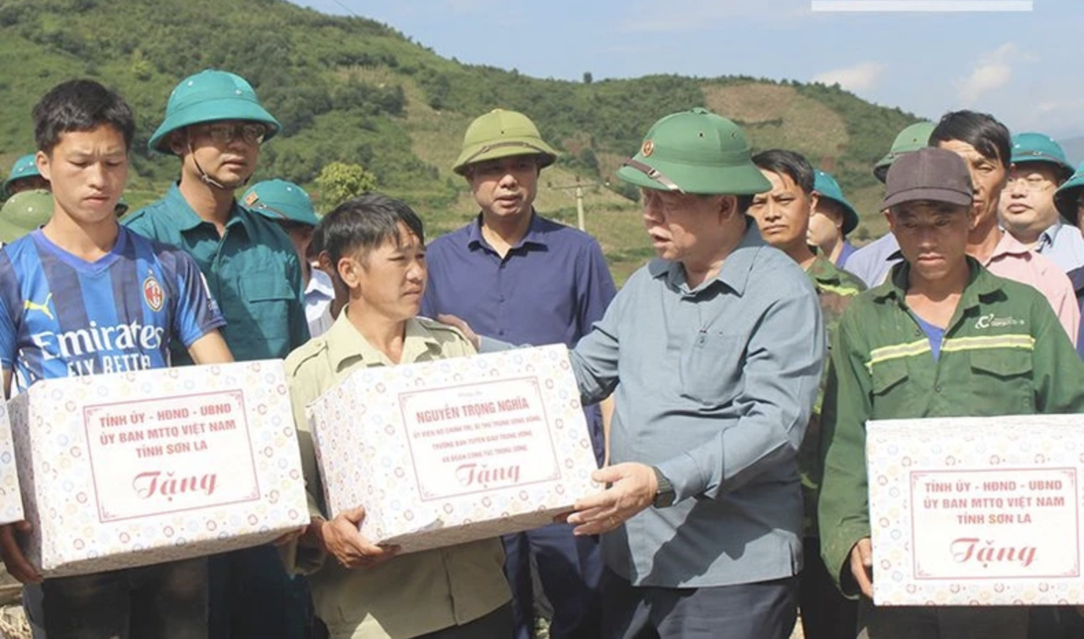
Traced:
<path fill-rule="evenodd" d="M 359 250 L 367 252 L 388 240 L 398 246 L 400 222 L 425 244 L 422 219 L 414 209 L 386 195 L 366 193 L 324 216 L 317 225 L 313 242 L 319 243 L 321 251 L 327 251 L 332 264 L 338 264 L 346 256 Z"/>

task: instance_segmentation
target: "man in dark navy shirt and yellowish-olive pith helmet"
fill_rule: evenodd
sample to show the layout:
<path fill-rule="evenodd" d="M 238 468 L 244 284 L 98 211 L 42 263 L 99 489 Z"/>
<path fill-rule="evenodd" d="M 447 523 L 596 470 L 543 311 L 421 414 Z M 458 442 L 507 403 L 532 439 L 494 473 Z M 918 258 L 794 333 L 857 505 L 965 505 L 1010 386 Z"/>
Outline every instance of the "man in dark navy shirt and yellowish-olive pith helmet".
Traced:
<path fill-rule="evenodd" d="M 423 315 L 449 313 L 480 335 L 569 348 L 602 320 L 617 291 L 598 243 L 534 212 L 539 173 L 555 159 L 522 114 L 495 109 L 470 123 L 453 170 L 470 184 L 480 213 L 429 245 Z M 586 413 L 602 461 L 601 413 L 594 406 Z M 505 536 L 504 547 L 516 639 L 533 631 L 531 553 L 554 609 L 550 636 L 598 637 L 602 562 L 595 537 L 573 537 L 570 525 L 553 524 Z"/>

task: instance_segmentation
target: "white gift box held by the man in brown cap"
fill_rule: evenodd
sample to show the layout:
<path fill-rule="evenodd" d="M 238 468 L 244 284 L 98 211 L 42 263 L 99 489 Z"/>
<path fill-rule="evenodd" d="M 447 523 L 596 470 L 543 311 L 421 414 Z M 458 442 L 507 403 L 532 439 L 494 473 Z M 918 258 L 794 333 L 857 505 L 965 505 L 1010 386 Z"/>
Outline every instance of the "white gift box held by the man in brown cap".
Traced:
<path fill-rule="evenodd" d="M 1084 603 L 1084 417 L 866 425 L 877 605 Z"/>

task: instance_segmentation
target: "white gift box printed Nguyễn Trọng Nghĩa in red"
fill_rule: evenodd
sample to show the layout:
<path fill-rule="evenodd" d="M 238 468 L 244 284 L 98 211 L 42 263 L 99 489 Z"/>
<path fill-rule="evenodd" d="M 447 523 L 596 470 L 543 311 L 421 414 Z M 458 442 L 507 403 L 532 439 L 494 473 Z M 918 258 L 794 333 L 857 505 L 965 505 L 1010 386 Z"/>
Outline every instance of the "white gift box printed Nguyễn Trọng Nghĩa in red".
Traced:
<path fill-rule="evenodd" d="M 363 368 L 312 402 L 330 514 L 402 552 L 539 527 L 597 492 L 564 345 Z"/>

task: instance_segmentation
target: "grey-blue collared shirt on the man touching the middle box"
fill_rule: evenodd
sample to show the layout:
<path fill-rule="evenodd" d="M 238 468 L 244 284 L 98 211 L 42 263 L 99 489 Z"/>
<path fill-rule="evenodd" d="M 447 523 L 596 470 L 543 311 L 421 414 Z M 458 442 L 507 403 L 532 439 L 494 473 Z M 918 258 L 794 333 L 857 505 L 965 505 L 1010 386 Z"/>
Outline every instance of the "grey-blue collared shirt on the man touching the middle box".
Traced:
<path fill-rule="evenodd" d="M 824 358 L 801 268 L 747 229 L 719 275 L 691 288 L 653 260 L 571 353 L 584 402 L 616 387 L 615 464 L 658 467 L 676 503 L 603 535 L 636 586 L 701 587 L 801 570 L 798 447 Z M 620 382 L 620 383 L 618 383 Z"/>

